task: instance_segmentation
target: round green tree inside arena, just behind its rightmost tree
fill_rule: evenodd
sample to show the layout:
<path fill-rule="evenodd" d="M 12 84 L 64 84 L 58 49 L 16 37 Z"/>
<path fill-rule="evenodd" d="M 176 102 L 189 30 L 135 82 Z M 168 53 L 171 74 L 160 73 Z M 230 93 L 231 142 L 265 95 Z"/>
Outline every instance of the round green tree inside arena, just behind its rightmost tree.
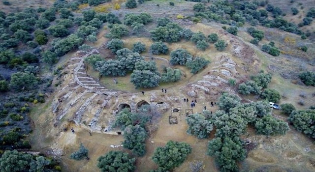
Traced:
<path fill-rule="evenodd" d="M 171 59 L 169 60 L 169 63 L 171 65 L 185 65 L 188 61 L 192 60 L 192 56 L 185 49 L 174 50 L 171 52 L 170 56 Z"/>

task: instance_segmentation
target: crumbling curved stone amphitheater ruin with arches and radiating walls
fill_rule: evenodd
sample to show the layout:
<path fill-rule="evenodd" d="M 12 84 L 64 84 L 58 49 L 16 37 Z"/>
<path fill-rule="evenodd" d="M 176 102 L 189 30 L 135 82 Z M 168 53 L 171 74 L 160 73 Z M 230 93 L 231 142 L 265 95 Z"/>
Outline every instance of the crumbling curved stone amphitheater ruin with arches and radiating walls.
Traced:
<path fill-rule="evenodd" d="M 160 113 L 165 113 L 170 111 L 174 103 L 182 101 L 187 96 L 197 98 L 199 95 L 206 95 L 205 97 L 208 96 L 208 98 L 209 96 L 218 98 L 222 91 L 234 92 L 227 86 L 228 80 L 236 77 L 238 80 L 242 80 L 239 71 L 246 72 L 246 69 L 238 65 L 230 56 L 251 63 L 257 58 L 254 51 L 248 51 L 251 50 L 248 45 L 235 38 L 230 38 L 229 43 L 232 44 L 233 55 L 222 54 L 214 57 L 212 63 L 215 66 L 201 80 L 185 86 L 176 86 L 176 89 L 181 90 L 181 95 L 167 97 L 161 97 L 157 90 L 147 91 L 146 96 L 142 96 L 141 92 L 130 93 L 101 86 L 86 72 L 84 58 L 99 54 L 98 50 L 104 48 L 105 43 L 88 53 L 78 51 L 64 68 L 62 87 L 52 103 L 52 112 L 55 115 L 54 125 L 60 126 L 65 119 L 93 132 L 117 134 L 121 131 L 112 129 L 111 124 L 115 120 L 115 115 L 124 108 L 135 112 L 138 107 L 147 104 L 155 107 Z M 248 59 L 251 61 L 247 61 Z M 158 91 L 160 92 L 160 90 Z"/>

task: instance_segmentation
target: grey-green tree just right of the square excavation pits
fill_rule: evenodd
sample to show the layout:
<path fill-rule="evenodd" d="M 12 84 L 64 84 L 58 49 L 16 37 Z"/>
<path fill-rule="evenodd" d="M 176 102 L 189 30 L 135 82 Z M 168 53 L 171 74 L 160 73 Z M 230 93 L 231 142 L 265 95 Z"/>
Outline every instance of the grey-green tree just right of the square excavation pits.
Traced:
<path fill-rule="evenodd" d="M 209 138 L 209 134 L 213 130 L 211 121 L 206 120 L 204 115 L 190 115 L 186 117 L 186 122 L 189 125 L 187 133 L 189 135 L 197 136 L 198 139 Z"/>

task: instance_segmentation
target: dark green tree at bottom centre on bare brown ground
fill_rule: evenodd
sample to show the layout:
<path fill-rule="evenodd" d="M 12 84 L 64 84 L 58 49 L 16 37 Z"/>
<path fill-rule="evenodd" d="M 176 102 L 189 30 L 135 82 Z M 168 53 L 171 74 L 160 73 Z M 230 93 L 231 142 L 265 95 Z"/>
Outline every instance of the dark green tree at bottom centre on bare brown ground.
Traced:
<path fill-rule="evenodd" d="M 155 150 L 152 159 L 158 166 L 171 170 L 183 164 L 190 153 L 188 143 L 169 141 L 164 147 Z"/>

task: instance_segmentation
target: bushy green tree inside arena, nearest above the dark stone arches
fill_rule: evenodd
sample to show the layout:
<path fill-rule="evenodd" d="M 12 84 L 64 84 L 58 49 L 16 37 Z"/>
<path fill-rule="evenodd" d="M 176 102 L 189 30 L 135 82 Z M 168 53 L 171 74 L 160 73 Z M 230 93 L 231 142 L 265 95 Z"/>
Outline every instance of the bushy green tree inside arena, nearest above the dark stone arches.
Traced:
<path fill-rule="evenodd" d="M 130 76 L 130 82 L 138 87 L 148 88 L 158 86 L 160 76 L 149 70 L 134 70 Z"/>

